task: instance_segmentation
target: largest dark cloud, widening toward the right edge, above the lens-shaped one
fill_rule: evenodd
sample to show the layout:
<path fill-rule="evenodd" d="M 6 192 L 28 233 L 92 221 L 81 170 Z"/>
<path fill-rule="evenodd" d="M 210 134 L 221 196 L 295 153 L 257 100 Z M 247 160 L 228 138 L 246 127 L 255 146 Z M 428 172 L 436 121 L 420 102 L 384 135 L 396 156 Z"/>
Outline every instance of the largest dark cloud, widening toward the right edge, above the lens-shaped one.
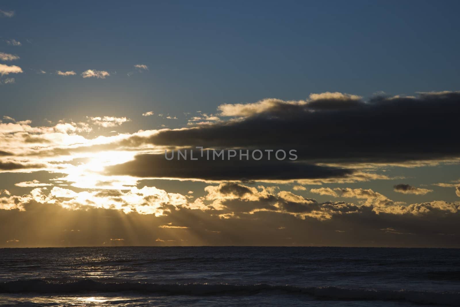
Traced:
<path fill-rule="evenodd" d="M 460 155 L 460 143 L 452 134 L 458 129 L 458 114 L 458 92 L 376 97 L 368 103 L 324 98 L 309 104 L 274 104 L 242 120 L 166 130 L 126 143 L 289 148 L 298 151 L 299 159 L 321 162 L 429 160 Z"/>

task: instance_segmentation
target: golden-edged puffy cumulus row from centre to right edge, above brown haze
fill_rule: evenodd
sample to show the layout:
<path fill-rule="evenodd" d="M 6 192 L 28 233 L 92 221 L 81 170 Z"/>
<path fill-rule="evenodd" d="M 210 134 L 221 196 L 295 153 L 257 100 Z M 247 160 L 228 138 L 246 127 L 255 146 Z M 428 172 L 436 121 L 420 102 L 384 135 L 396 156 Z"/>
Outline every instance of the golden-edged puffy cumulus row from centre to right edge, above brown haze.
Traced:
<path fill-rule="evenodd" d="M 241 213 L 253 214 L 260 211 L 292 214 L 298 218 L 311 217 L 318 220 L 332 219 L 340 214 L 396 214 L 396 215 L 426 215 L 438 213 L 457 214 L 460 210 L 460 202 L 447 203 L 434 201 L 430 203 L 418 203 L 404 205 L 393 202 L 384 195 L 370 189 L 334 189 L 337 197 L 354 197 L 366 199 L 360 204 L 348 202 L 318 203 L 315 199 L 301 197 L 289 191 L 274 193 L 264 186 L 258 189 L 236 183 L 223 183 L 219 186 L 207 186 L 207 195 L 198 198 L 194 204 L 201 203 L 201 209 L 220 210 L 226 218 L 241 216 Z M 205 205 L 204 200 L 212 201 Z M 238 214 L 237 214 L 238 213 Z M 230 215 L 229 215 L 230 214 Z"/>

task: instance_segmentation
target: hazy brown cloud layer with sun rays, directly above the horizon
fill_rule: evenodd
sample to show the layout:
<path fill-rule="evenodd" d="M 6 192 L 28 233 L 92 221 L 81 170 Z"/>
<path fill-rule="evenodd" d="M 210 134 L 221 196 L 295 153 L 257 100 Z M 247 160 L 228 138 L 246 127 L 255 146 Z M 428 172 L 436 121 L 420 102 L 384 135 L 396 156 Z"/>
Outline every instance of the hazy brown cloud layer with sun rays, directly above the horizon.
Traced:
<path fill-rule="evenodd" d="M 243 209 L 251 204 L 239 203 Z M 342 213 L 356 209 L 345 203 L 325 203 L 323 206 L 340 208 Z M 168 209 L 167 215 L 155 216 L 97 208 L 68 210 L 53 204 L 30 203 L 26 205 L 26 211 L 0 210 L 0 246 L 8 247 L 6 240 L 11 238 L 19 240 L 20 247 L 100 246 L 110 238 L 124 238 L 125 245 L 149 246 L 157 245 L 155 240 L 160 237 L 165 241 L 176 240 L 168 245 L 197 246 L 460 247 L 458 213 L 436 217 L 429 214 L 375 214 L 372 208 L 362 207 L 359 213 L 335 214 L 332 219 L 324 221 L 310 217 L 302 220 L 273 210 L 222 219 L 216 210 L 174 206 Z M 50 216 L 59 218 L 50 219 Z M 24 220 L 28 221 L 28 227 L 18 222 Z M 168 223 L 188 229 L 159 228 Z M 280 226 L 284 228 L 280 230 Z M 381 230 L 390 228 L 398 233 Z M 81 231 L 70 232 L 70 229 Z M 344 232 L 336 232 L 338 229 Z"/>

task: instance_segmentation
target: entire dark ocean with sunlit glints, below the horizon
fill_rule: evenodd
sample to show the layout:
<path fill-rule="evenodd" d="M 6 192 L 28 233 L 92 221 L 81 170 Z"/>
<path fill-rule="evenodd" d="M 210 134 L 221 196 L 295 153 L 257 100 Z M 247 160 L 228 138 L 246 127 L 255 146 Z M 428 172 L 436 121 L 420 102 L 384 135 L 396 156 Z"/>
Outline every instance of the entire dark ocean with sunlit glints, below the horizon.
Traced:
<path fill-rule="evenodd" d="M 0 249 L 0 306 L 460 305 L 460 249 Z"/>

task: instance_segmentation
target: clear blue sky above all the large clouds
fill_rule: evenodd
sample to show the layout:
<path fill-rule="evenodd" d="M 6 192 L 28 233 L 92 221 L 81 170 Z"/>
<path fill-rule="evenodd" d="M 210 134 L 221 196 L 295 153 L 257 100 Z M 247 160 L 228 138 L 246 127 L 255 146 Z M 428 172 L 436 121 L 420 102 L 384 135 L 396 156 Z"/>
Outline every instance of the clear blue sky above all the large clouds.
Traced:
<path fill-rule="evenodd" d="M 460 77 L 458 8 L 457 1 L 3 1 L 16 15 L 0 19 L 1 49 L 20 56 L 14 64 L 24 71 L 0 88 L 3 111 L 32 120 L 108 108 L 115 116 L 151 109 L 180 116 L 326 91 L 452 90 Z M 22 46 L 7 46 L 9 39 Z M 139 63 L 149 72 L 127 76 Z M 82 79 L 87 69 L 111 76 Z"/>

